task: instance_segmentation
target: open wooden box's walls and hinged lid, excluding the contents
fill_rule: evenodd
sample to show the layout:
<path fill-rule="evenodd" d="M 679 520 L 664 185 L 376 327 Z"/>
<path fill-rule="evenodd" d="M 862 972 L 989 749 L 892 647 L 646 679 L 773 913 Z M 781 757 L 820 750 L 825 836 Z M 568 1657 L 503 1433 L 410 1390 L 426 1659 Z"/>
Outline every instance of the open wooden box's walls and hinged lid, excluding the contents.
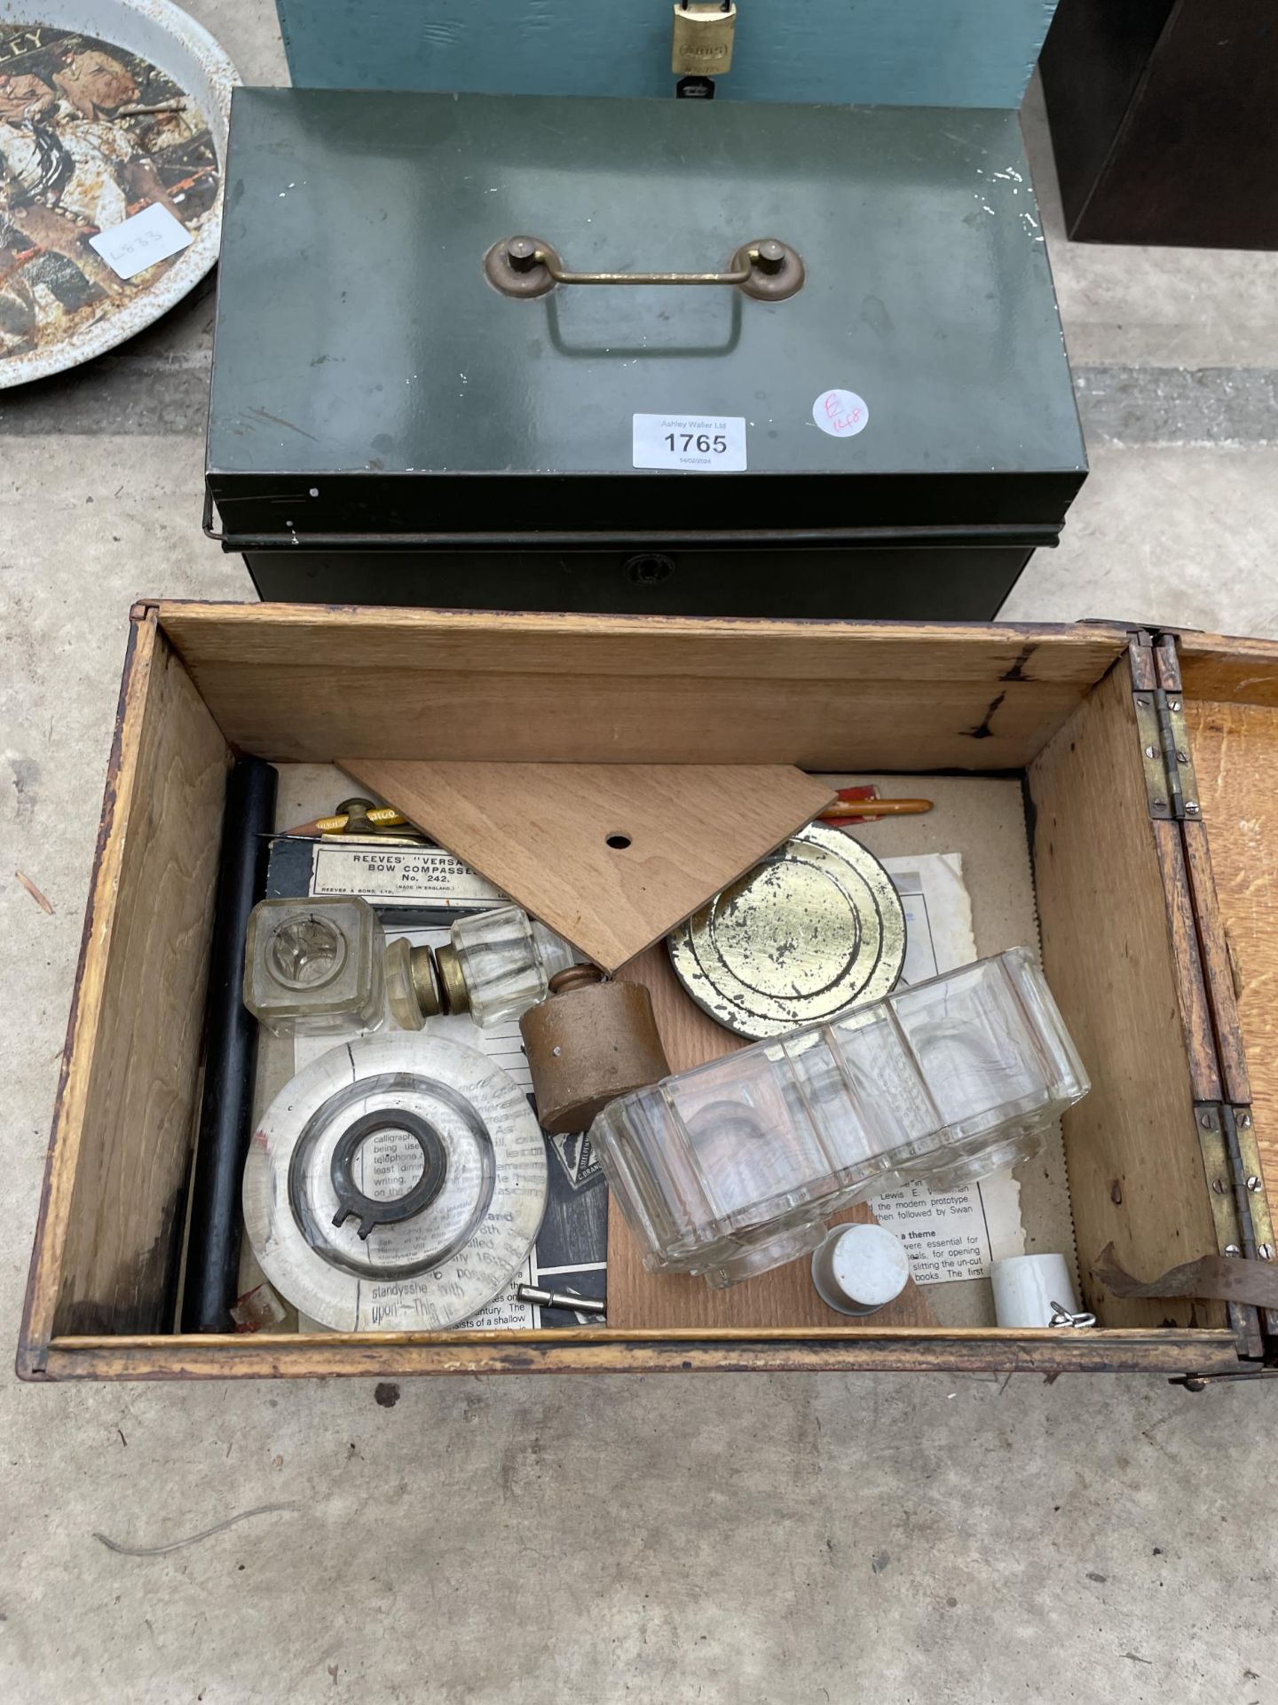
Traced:
<path fill-rule="evenodd" d="M 1065 1158 L 1097 1326 L 172 1333 L 235 752 L 1019 772 L 1043 962 L 1092 1076 L 1065 1120 Z M 1261 641 L 141 604 L 19 1373 L 1259 1374 L 1278 1325 L 1263 1311 L 1121 1301 L 1091 1263 L 1108 1243 L 1143 1279 L 1217 1251 L 1273 1258 L 1275 767 L 1278 644 Z"/>

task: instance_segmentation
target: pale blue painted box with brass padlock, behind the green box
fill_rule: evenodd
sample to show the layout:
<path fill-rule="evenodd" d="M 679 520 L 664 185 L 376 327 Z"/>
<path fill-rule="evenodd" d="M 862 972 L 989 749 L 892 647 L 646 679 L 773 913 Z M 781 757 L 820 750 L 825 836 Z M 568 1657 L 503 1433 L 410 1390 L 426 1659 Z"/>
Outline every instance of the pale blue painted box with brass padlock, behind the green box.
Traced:
<path fill-rule="evenodd" d="M 728 101 L 1019 106 L 1056 0 L 738 0 Z M 293 82 L 665 95 L 670 0 L 276 0 Z"/>

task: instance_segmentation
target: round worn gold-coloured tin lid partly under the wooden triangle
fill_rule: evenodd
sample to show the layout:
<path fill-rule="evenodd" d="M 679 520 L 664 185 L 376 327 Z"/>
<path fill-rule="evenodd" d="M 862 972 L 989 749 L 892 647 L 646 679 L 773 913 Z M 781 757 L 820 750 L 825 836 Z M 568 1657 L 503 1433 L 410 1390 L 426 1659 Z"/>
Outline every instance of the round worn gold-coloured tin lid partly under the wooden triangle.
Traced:
<path fill-rule="evenodd" d="M 673 929 L 670 958 L 711 1018 L 777 1037 L 889 994 L 905 910 L 872 852 L 809 824 Z"/>

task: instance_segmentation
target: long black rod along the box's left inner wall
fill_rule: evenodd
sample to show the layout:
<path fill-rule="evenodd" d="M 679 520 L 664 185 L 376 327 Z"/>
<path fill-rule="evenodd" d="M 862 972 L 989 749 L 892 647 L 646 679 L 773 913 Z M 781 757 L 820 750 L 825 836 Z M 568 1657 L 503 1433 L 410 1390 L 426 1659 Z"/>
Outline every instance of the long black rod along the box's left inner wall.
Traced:
<path fill-rule="evenodd" d="M 244 1004 L 244 936 L 266 892 L 278 774 L 242 757 L 227 781 L 213 950 L 204 1008 L 204 1100 L 199 1108 L 182 1332 L 228 1332 L 239 1291 L 240 1178 L 252 1134 L 257 1020 Z"/>

